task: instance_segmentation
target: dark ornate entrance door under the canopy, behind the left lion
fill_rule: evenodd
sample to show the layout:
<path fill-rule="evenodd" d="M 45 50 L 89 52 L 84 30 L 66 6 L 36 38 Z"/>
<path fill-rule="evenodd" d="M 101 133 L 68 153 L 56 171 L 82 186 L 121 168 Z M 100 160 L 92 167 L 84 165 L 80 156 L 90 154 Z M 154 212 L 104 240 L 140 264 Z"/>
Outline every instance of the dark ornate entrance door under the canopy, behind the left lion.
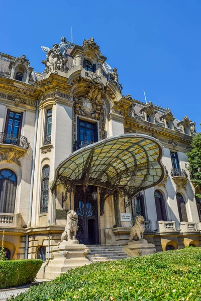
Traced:
<path fill-rule="evenodd" d="M 78 188 L 79 189 L 79 188 Z M 83 244 L 98 244 L 97 188 L 75 194 L 74 210 L 78 215 L 77 240 Z"/>

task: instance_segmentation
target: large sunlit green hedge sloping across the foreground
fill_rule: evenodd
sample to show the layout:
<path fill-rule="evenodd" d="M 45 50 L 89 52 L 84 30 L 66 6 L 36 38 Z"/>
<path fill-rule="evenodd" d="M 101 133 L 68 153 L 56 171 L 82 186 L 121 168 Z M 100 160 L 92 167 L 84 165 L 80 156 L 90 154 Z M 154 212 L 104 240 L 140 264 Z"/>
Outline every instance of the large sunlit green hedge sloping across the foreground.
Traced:
<path fill-rule="evenodd" d="M 71 269 L 11 300 L 200 301 L 200 273 L 201 248 L 185 248 Z"/>

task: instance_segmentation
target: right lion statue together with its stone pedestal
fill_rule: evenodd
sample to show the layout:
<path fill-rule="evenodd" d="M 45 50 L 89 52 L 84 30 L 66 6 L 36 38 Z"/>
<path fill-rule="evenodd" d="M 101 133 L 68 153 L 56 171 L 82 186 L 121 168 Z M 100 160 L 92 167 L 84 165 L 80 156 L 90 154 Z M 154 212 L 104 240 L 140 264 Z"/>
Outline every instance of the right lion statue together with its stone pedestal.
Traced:
<path fill-rule="evenodd" d="M 136 216 L 135 225 L 131 229 L 128 245 L 124 250 L 132 257 L 150 255 L 156 252 L 155 245 L 143 239 L 145 231 L 145 219 L 141 215 Z"/>

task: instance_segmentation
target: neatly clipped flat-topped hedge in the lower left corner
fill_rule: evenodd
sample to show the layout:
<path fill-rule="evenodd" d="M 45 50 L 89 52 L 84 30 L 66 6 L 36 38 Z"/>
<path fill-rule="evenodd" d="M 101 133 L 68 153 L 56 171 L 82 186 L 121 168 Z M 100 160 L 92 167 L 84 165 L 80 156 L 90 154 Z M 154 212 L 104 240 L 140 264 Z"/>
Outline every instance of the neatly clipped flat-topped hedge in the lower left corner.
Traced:
<path fill-rule="evenodd" d="M 42 263 L 40 259 L 0 260 L 0 288 L 33 282 Z"/>

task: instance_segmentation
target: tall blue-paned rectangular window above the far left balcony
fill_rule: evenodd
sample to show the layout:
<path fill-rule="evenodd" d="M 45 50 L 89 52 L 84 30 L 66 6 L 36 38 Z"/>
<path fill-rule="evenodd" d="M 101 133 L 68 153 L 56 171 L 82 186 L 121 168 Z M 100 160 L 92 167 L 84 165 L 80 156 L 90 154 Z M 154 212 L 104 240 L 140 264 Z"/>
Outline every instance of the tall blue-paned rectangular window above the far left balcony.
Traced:
<path fill-rule="evenodd" d="M 18 145 L 22 127 L 23 113 L 14 112 L 8 109 L 4 133 L 4 143 Z"/>

